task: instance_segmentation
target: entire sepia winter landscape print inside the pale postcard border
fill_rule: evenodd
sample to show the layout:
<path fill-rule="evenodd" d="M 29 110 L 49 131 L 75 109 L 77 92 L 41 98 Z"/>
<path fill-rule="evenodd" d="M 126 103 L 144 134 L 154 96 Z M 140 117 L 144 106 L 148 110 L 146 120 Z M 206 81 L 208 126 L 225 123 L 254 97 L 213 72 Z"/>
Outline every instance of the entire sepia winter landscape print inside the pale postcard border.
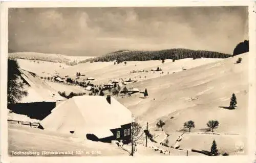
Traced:
<path fill-rule="evenodd" d="M 8 10 L 9 156 L 247 155 L 248 7 Z"/>

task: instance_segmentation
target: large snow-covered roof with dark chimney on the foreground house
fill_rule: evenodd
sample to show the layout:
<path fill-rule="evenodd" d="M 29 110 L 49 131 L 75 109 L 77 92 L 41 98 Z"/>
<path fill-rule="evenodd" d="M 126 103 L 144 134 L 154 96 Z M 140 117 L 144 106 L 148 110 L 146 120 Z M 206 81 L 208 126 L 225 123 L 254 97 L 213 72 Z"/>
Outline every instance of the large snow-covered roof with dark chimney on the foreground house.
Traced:
<path fill-rule="evenodd" d="M 98 138 L 112 136 L 110 129 L 132 122 L 129 109 L 111 97 L 111 104 L 103 96 L 76 96 L 55 107 L 52 113 L 41 121 L 47 130 L 85 137 L 95 134 Z"/>

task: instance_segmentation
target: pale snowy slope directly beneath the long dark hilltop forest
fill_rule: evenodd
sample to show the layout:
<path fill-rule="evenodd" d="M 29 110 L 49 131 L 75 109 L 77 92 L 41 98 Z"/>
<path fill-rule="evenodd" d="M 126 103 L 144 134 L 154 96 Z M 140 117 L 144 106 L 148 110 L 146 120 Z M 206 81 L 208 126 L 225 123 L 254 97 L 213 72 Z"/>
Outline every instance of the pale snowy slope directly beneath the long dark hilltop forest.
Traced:
<path fill-rule="evenodd" d="M 151 78 L 158 78 L 160 76 L 170 75 L 172 73 L 177 73 L 182 71 L 182 68 L 192 68 L 200 66 L 207 63 L 217 62 L 223 59 L 213 59 L 213 58 L 200 58 L 193 60 L 191 58 L 180 59 L 173 62 L 170 59 L 166 59 L 164 64 L 159 60 L 151 61 L 127 61 L 126 65 L 113 64 L 113 62 L 86 62 L 80 63 L 78 65 L 70 66 L 65 69 L 58 69 L 57 73 L 60 76 L 69 76 L 73 79 L 76 78 L 76 72 L 80 72 L 86 76 L 80 76 L 77 81 L 83 81 L 86 78 L 93 77 L 94 84 L 108 83 L 110 80 L 118 79 L 132 79 L 137 81 L 143 81 Z M 163 71 L 151 72 L 152 68 L 161 67 Z M 131 73 L 136 70 L 144 70 L 140 73 Z M 149 71 L 149 72 L 146 72 Z M 161 74 L 163 73 L 163 74 Z"/>

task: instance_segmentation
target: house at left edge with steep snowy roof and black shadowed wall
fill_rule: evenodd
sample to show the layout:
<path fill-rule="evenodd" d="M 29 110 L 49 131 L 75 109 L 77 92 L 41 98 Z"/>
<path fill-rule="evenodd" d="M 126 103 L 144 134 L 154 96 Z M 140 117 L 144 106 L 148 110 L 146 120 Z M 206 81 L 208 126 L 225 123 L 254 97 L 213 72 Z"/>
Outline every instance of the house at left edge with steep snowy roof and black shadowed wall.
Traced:
<path fill-rule="evenodd" d="M 18 70 L 20 72 L 19 82 L 24 83 L 24 90 L 28 92 L 28 96 L 23 97 L 18 103 L 8 103 L 8 109 L 27 115 L 29 118 L 41 120 L 50 114 L 57 102 L 66 100 L 35 73 L 22 68 Z"/>

